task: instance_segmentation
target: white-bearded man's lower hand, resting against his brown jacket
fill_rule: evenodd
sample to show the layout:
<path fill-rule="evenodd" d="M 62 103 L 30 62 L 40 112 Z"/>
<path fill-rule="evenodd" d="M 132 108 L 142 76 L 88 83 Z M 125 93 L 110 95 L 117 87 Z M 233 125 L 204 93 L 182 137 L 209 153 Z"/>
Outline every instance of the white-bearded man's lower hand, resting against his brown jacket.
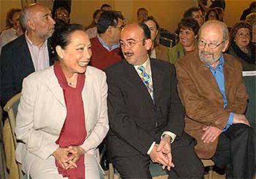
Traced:
<path fill-rule="evenodd" d="M 203 128 L 203 133 L 202 140 L 204 143 L 213 143 L 218 136 L 220 136 L 222 130 L 217 127 L 213 126 L 207 126 Z"/>

